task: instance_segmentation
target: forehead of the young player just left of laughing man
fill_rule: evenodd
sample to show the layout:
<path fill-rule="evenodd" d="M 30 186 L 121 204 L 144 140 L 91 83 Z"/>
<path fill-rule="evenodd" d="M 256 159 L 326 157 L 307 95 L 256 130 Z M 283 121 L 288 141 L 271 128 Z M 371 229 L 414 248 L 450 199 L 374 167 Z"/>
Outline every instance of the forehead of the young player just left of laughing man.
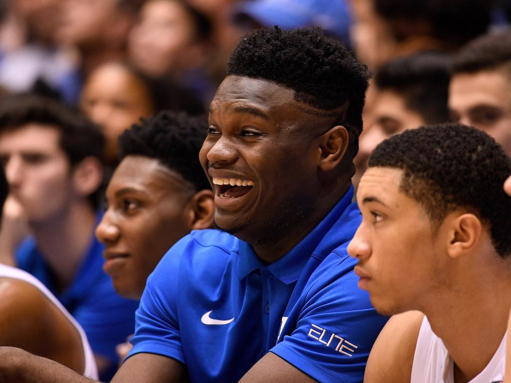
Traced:
<path fill-rule="evenodd" d="M 116 193 L 123 188 L 134 188 L 150 195 L 163 194 L 170 197 L 169 192 L 179 192 L 183 183 L 183 178 L 177 172 L 158 160 L 129 155 L 115 169 L 107 189 L 110 193 Z"/>

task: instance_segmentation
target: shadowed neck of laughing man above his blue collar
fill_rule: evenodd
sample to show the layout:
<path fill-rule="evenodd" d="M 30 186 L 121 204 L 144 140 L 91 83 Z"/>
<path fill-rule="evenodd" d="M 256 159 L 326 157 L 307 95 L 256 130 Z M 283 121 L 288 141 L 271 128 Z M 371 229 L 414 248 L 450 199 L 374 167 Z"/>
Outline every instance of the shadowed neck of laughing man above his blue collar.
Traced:
<path fill-rule="evenodd" d="M 261 243 L 251 243 L 255 254 L 267 264 L 272 264 L 291 251 L 307 234 L 309 234 L 328 215 L 334 206 L 349 190 L 351 183 L 338 182 L 330 190 L 327 196 L 317 196 L 314 204 L 311 204 L 310 214 L 307 218 L 296 217 L 293 222 L 287 222 L 278 229 L 274 229 L 277 235 L 268 238 Z M 341 196 L 341 197 L 339 197 Z"/>

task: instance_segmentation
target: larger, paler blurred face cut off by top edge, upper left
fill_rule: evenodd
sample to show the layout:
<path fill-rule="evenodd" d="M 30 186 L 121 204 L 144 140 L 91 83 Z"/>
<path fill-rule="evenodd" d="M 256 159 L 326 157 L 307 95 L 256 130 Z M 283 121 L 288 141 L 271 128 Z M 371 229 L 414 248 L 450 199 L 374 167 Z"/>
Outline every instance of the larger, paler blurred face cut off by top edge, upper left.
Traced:
<path fill-rule="evenodd" d="M 61 1 L 63 17 L 58 37 L 62 42 L 77 46 L 124 43 L 131 20 L 120 10 L 119 0 Z"/>

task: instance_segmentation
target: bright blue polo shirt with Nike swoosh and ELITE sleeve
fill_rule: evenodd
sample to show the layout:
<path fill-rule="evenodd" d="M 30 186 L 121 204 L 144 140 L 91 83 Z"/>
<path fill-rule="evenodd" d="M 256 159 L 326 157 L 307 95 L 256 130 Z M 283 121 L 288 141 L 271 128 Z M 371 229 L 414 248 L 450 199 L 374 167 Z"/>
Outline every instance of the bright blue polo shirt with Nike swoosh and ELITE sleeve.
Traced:
<path fill-rule="evenodd" d="M 192 382 L 235 382 L 271 351 L 316 380 L 361 382 L 387 318 L 346 252 L 361 221 L 352 197 L 271 265 L 221 231 L 182 238 L 148 279 L 128 357 L 165 355 Z"/>

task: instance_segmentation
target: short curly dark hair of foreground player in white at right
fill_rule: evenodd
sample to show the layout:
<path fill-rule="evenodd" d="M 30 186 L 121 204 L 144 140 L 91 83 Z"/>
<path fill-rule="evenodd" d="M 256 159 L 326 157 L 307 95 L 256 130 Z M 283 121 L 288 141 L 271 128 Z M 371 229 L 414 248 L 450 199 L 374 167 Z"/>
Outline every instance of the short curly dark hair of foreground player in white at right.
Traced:
<path fill-rule="evenodd" d="M 487 225 L 498 254 L 511 255 L 511 197 L 502 188 L 511 159 L 486 133 L 451 123 L 407 130 L 376 147 L 369 158 L 375 166 L 403 171 L 400 189 L 436 228 L 447 214 L 467 209 Z"/>

